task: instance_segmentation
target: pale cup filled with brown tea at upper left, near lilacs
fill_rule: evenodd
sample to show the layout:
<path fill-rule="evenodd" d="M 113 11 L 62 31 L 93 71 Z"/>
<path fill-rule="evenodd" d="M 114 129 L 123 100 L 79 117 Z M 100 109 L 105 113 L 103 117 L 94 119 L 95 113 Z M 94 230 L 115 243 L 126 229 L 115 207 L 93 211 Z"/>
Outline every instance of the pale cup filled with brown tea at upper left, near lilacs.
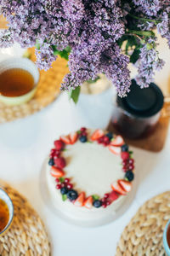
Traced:
<path fill-rule="evenodd" d="M 37 90 L 39 72 L 33 61 L 13 57 L 0 62 L 0 101 L 14 106 L 31 100 Z"/>

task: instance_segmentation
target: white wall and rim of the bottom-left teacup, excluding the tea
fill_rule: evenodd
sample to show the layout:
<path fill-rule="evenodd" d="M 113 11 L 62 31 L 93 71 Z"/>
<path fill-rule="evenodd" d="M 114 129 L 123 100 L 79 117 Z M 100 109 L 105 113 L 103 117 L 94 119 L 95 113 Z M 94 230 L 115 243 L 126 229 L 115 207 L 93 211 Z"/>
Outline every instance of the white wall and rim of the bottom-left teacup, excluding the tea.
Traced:
<path fill-rule="evenodd" d="M 2 199 L 6 203 L 6 205 L 8 206 L 8 212 L 9 212 L 8 224 L 6 224 L 4 229 L 0 232 L 0 236 L 1 236 L 4 234 L 5 231 L 8 230 L 8 228 L 12 224 L 12 221 L 14 218 L 14 206 L 8 194 L 1 188 L 0 188 L 0 199 Z"/>

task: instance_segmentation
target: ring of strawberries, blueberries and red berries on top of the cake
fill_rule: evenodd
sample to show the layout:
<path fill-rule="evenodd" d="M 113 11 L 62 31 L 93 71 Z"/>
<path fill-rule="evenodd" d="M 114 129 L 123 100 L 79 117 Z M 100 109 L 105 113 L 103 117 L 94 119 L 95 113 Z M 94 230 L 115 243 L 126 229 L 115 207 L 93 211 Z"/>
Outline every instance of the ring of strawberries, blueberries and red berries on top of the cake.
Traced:
<path fill-rule="evenodd" d="M 68 136 L 61 136 L 59 140 L 54 141 L 55 148 L 51 149 L 48 160 L 48 165 L 51 166 L 50 174 L 55 177 L 56 189 L 60 190 L 63 201 L 69 200 L 77 207 L 86 207 L 88 209 L 91 209 L 92 207 L 105 208 L 110 206 L 111 203 L 116 201 L 121 195 L 127 195 L 127 192 L 132 189 L 131 182 L 134 178 L 132 172 L 134 168 L 134 160 L 132 158 L 133 152 L 128 150 L 127 144 L 124 143 L 122 137 L 119 135 L 113 136 L 111 132 L 105 132 L 101 129 L 94 131 L 91 136 L 88 132 L 89 131 L 85 127 L 82 127 L 79 131 L 71 132 Z M 65 154 L 69 152 L 68 155 L 70 157 L 71 153 L 71 146 L 67 146 L 67 144 L 73 145 L 77 143 L 77 140 L 81 143 L 86 143 L 88 142 L 88 138 L 91 139 L 91 141 L 89 141 L 90 143 L 99 143 L 101 146 L 105 147 L 105 150 L 108 150 L 108 152 L 110 150 L 112 154 L 115 154 L 115 157 L 120 159 L 120 164 L 122 161 L 122 172 L 125 172 L 124 179 L 118 179 L 116 182 L 111 183 L 112 190 L 107 191 L 103 197 L 100 197 L 99 195 L 88 195 L 86 198 L 85 192 L 81 192 L 81 189 L 78 188 L 78 184 L 71 183 L 71 180 L 74 177 L 65 177 L 64 168 L 67 164 L 65 161 Z M 78 145 L 80 146 L 81 144 L 79 143 Z M 92 146 L 92 148 L 95 147 Z M 112 159 L 111 154 L 108 155 Z M 92 160 L 93 159 L 94 158 L 92 158 Z M 116 162 L 116 165 L 118 165 L 118 162 Z M 66 170 L 68 172 L 68 169 Z M 77 193 L 77 190 L 74 189 L 75 185 L 77 186 L 78 191 L 80 190 L 80 193 Z"/>

